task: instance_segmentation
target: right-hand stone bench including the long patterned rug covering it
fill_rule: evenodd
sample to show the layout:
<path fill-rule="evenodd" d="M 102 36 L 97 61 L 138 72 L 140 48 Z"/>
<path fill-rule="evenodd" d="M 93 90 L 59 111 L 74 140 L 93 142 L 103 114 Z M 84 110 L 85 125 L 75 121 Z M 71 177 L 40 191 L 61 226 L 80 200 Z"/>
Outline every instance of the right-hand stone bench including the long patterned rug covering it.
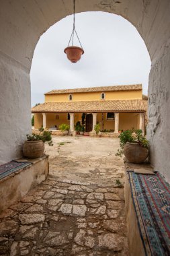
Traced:
<path fill-rule="evenodd" d="M 170 255 L 168 224 L 165 228 L 170 218 L 170 211 L 165 207 L 166 199 L 167 208 L 170 207 L 169 185 L 149 164 L 125 162 L 125 172 L 124 193 L 130 255 Z M 164 205 L 164 209 L 161 205 Z"/>

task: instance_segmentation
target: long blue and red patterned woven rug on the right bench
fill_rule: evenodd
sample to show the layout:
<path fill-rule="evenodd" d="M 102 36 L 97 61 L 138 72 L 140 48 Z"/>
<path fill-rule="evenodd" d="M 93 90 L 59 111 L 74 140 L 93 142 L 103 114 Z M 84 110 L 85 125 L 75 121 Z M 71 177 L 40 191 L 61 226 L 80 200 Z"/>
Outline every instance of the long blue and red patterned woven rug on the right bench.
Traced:
<path fill-rule="evenodd" d="M 165 182 L 159 172 L 155 176 L 128 172 L 128 176 L 140 236 L 146 255 L 169 256 L 169 184 Z"/>

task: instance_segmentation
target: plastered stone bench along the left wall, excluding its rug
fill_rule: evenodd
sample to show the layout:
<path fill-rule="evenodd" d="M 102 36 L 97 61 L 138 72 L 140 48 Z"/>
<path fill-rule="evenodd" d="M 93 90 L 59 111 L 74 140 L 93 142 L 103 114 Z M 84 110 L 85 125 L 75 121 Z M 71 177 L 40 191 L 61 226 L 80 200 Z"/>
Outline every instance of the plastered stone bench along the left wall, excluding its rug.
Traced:
<path fill-rule="evenodd" d="M 24 159 L 21 159 L 21 161 Z M 26 159 L 25 159 L 26 160 Z M 32 165 L 17 172 L 13 172 L 8 177 L 0 181 L 0 212 L 22 199 L 24 195 L 37 184 L 42 183 L 48 175 L 48 156 L 31 159 Z"/>

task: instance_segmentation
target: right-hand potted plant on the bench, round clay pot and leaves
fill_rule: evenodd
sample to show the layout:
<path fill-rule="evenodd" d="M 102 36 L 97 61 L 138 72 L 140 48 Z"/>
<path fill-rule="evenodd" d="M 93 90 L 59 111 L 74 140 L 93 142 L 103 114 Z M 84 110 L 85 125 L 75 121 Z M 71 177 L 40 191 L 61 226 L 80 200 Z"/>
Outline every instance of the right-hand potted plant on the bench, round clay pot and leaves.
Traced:
<path fill-rule="evenodd" d="M 122 131 L 120 137 L 120 150 L 116 156 L 126 156 L 129 162 L 140 164 L 148 157 L 149 142 L 140 129 Z"/>

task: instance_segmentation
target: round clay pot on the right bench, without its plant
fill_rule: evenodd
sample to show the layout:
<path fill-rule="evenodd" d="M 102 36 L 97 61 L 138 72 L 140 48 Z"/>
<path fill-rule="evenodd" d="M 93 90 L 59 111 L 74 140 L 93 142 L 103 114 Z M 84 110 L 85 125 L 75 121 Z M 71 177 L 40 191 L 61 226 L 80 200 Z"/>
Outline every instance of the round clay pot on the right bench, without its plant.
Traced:
<path fill-rule="evenodd" d="M 127 142 L 124 146 L 124 156 L 129 162 L 140 164 L 148 157 L 148 149 L 143 148 L 138 143 Z"/>

